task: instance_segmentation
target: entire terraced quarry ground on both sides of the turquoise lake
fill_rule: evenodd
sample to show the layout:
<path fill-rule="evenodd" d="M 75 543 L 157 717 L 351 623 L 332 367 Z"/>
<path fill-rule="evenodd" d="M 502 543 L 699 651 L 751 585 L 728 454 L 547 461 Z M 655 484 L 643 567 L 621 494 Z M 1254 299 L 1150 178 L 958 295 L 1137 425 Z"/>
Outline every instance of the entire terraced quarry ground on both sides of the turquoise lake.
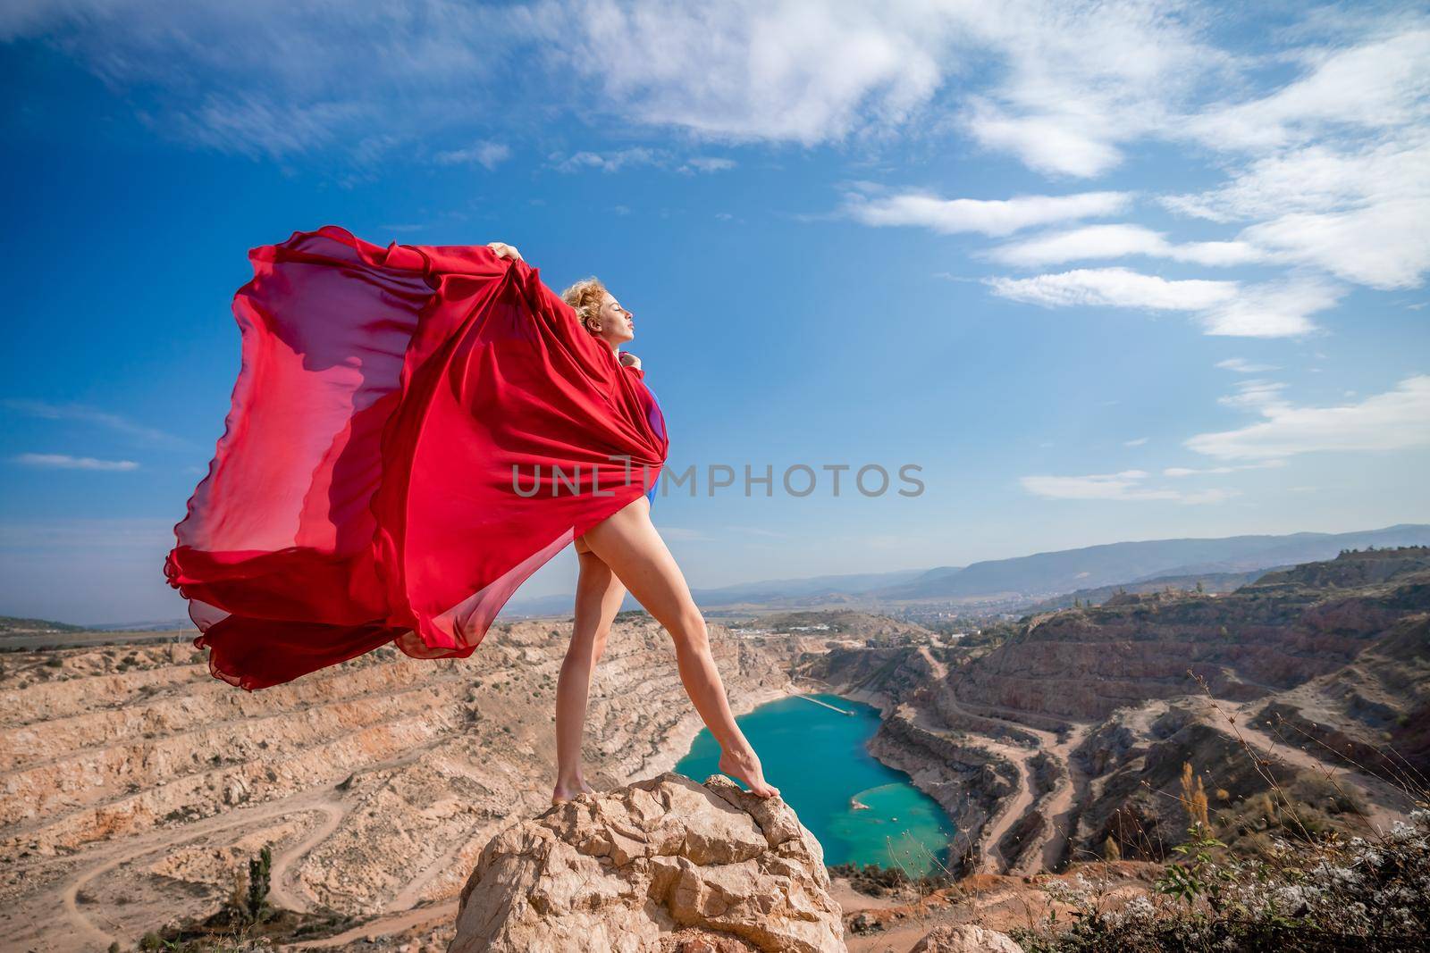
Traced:
<path fill-rule="evenodd" d="M 1358 832 L 1410 803 L 1357 764 L 1430 773 L 1426 550 L 957 642 L 848 612 L 761 627 L 712 626 L 736 707 L 821 687 L 879 706 L 871 750 L 960 832 L 954 887 L 871 897 L 834 880 L 857 952 L 1037 922 L 1048 883 L 1084 872 L 1114 902 L 1145 893 L 1181 839 L 1187 762 L 1217 834 L 1247 852 L 1287 823 L 1283 794 L 1296 823 Z M 129 949 L 213 913 L 272 844 L 272 902 L 317 932 L 295 949 L 445 949 L 482 847 L 548 806 L 566 630 L 511 624 L 455 662 L 383 650 L 253 694 L 210 679 L 186 640 L 0 654 L 0 947 Z M 591 780 L 652 777 L 698 727 L 666 634 L 621 620 L 592 693 Z"/>

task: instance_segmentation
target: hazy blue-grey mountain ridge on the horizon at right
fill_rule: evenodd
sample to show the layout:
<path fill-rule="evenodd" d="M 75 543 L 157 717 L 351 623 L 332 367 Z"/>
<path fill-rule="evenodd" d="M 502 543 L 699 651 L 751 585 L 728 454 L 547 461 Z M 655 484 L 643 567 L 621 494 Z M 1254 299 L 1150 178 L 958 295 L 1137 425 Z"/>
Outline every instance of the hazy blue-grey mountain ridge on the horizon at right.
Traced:
<path fill-rule="evenodd" d="M 971 596 L 1054 596 L 1158 576 L 1240 573 L 1271 566 L 1334 559 L 1346 549 L 1421 546 L 1430 526 L 1401 524 L 1360 533 L 1293 533 L 1226 539 L 1148 540 L 1038 553 L 932 570 L 909 583 L 872 590 L 879 599 L 958 599 Z"/>

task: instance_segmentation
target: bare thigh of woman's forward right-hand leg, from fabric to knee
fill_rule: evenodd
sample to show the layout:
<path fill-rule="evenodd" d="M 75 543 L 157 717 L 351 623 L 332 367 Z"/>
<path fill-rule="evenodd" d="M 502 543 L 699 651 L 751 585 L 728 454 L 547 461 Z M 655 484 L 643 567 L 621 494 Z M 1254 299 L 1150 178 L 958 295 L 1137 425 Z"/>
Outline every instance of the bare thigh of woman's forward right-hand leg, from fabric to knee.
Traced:
<path fill-rule="evenodd" d="M 698 614 L 681 567 L 651 522 L 651 502 L 638 496 L 586 530 L 586 544 L 625 583 L 631 594 L 668 630 Z"/>

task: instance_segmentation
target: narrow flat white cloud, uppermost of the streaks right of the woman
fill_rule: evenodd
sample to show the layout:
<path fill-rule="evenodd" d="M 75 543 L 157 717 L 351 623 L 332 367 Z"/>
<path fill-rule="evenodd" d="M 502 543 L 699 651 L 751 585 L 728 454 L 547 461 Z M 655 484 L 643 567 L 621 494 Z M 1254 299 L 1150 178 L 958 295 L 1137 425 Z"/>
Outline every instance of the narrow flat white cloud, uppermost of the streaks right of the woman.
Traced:
<path fill-rule="evenodd" d="M 954 234 L 977 231 L 1004 236 L 1034 226 L 1114 214 L 1127 207 L 1124 191 L 1084 191 L 1070 196 L 1012 199 L 940 199 L 927 193 L 867 196 L 848 193 L 844 214 L 871 226 L 919 226 Z"/>

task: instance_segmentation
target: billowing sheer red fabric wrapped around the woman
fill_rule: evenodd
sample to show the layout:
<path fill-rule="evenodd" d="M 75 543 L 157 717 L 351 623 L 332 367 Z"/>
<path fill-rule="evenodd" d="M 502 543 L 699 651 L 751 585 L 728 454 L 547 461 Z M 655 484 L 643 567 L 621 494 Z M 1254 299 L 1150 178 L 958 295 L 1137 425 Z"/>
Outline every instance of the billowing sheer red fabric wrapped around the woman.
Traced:
<path fill-rule="evenodd" d="M 260 689 L 393 640 L 468 656 L 658 477 L 644 374 L 525 261 L 335 226 L 249 259 L 233 406 L 164 562 L 214 676 Z"/>

